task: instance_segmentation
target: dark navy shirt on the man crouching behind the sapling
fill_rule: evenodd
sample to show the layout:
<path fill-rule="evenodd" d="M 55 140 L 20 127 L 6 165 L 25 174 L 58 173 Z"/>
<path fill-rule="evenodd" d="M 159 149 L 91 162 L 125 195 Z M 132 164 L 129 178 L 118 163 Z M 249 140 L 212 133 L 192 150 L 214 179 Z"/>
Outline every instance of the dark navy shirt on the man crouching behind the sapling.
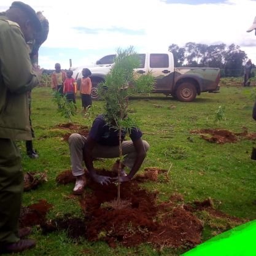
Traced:
<path fill-rule="evenodd" d="M 122 130 L 122 141 L 125 139 L 127 131 Z M 98 115 L 93 122 L 88 136 L 94 139 L 100 145 L 116 146 L 119 144 L 118 130 L 107 125 L 104 115 Z M 137 141 L 142 137 L 138 128 L 132 128 L 129 134 L 132 141 Z"/>

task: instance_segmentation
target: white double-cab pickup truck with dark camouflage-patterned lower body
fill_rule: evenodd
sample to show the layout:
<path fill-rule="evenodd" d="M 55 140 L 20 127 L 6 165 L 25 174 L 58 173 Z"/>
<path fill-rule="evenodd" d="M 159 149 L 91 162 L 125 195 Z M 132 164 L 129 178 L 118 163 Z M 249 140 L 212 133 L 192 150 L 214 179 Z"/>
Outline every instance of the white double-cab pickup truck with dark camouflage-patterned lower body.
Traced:
<path fill-rule="evenodd" d="M 104 82 L 106 74 L 114 64 L 113 55 L 109 58 L 112 63 L 97 61 L 98 66 L 90 68 L 91 71 L 91 98 L 98 98 L 98 83 Z M 107 57 L 105 56 L 105 57 Z M 138 53 L 140 66 L 135 69 L 137 74 L 145 74 L 151 71 L 156 83 L 153 93 L 163 93 L 173 96 L 179 101 L 193 101 L 196 95 L 219 91 L 220 69 L 219 68 L 174 68 L 173 53 Z M 103 57 L 104 58 L 104 57 Z M 101 60 L 103 59 L 101 58 Z M 106 58 L 107 59 L 107 58 Z M 76 77 L 82 78 L 82 70 Z"/>

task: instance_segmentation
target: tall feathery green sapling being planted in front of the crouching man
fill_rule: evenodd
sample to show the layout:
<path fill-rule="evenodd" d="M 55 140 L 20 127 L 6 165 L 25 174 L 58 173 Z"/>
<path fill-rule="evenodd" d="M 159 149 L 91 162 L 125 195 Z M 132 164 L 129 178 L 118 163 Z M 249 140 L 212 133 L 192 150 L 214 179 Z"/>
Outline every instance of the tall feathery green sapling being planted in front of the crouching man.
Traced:
<path fill-rule="evenodd" d="M 122 131 L 130 133 L 136 128 L 136 122 L 128 117 L 129 96 L 133 93 L 150 93 L 155 84 L 152 74 L 135 76 L 134 69 L 140 64 L 139 57 L 133 47 L 126 50 L 118 49 L 115 63 L 106 76 L 104 83 L 99 85 L 99 95 L 105 104 L 106 122 L 112 128 L 118 130 L 119 136 L 119 166 L 118 166 L 118 195 L 117 203 L 120 203 L 120 173 L 122 168 Z"/>

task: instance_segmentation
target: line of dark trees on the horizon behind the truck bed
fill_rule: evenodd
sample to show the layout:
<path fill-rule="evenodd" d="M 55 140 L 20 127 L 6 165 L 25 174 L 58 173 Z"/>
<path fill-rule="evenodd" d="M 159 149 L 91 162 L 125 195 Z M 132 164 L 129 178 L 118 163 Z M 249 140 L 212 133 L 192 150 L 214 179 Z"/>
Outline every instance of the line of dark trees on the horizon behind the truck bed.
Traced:
<path fill-rule="evenodd" d="M 174 55 L 176 67 L 220 68 L 222 77 L 242 76 L 243 65 L 247 60 L 247 54 L 235 44 L 228 46 L 187 42 L 184 47 L 171 44 L 168 50 Z"/>

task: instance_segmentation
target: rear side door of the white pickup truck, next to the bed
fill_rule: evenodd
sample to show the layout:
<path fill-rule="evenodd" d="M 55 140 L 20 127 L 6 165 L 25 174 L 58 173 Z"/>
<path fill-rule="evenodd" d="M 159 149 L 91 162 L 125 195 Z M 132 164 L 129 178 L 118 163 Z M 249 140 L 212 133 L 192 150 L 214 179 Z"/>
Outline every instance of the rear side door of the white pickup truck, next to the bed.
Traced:
<path fill-rule="evenodd" d="M 169 58 L 168 53 L 150 53 L 148 61 L 149 71 L 157 81 L 155 90 L 163 92 L 171 90 L 174 79 L 173 58 Z"/>

